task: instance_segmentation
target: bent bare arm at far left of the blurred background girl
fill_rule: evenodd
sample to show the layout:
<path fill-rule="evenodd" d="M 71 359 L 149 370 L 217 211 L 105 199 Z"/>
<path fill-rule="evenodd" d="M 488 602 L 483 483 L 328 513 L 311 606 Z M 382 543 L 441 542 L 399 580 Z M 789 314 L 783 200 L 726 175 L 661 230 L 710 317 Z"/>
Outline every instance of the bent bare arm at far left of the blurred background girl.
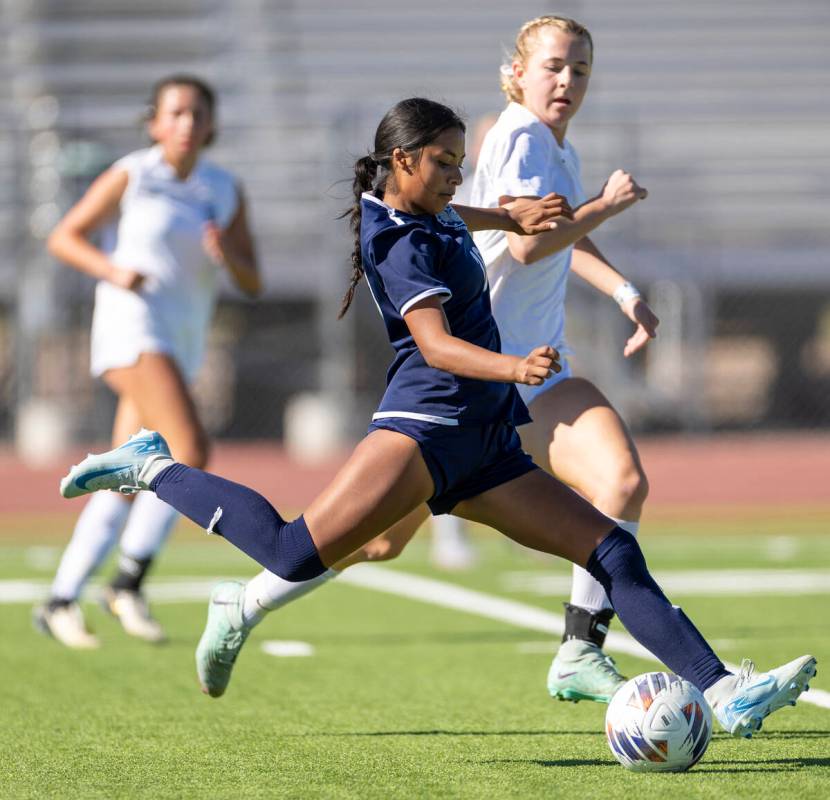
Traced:
<path fill-rule="evenodd" d="M 109 169 L 98 177 L 55 226 L 46 246 L 55 258 L 79 272 L 122 289 L 135 290 L 141 286 L 144 276 L 135 270 L 117 267 L 89 241 L 96 228 L 118 214 L 128 179 L 123 169 Z"/>

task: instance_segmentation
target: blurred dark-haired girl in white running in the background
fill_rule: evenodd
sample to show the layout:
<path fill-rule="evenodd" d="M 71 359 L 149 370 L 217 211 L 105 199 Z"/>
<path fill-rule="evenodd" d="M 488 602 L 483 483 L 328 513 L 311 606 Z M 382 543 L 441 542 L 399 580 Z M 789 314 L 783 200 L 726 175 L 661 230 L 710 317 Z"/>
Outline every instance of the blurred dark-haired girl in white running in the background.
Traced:
<path fill-rule="evenodd" d="M 188 385 L 202 363 L 218 269 L 247 294 L 260 279 L 236 179 L 202 158 L 215 135 L 215 95 L 188 75 L 153 89 L 147 128 L 154 145 L 117 161 L 49 238 L 54 256 L 98 279 L 91 371 L 117 394 L 113 441 L 142 425 L 164 432 L 184 463 L 204 466 L 208 440 Z M 102 247 L 90 234 L 103 229 Z M 49 602 L 35 610 L 42 630 L 70 647 L 97 647 L 77 600 L 121 535 L 109 610 L 149 641 L 163 632 L 140 592 L 178 514 L 151 494 L 130 501 L 103 492 L 81 512 Z M 123 529 L 123 534 L 122 534 Z"/>

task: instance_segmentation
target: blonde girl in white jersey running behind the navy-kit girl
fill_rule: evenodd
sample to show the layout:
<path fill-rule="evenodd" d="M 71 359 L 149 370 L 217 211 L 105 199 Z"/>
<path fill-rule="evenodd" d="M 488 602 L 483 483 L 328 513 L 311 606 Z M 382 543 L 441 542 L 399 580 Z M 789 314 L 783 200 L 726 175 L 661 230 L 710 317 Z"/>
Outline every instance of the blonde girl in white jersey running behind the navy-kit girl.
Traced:
<path fill-rule="evenodd" d="M 511 63 L 502 69 L 509 104 L 484 139 L 472 204 L 495 207 L 505 195 L 555 192 L 576 209 L 571 222 L 560 220 L 555 230 L 535 236 L 504 231 L 475 236 L 487 265 L 493 316 L 505 353 L 529 352 L 537 342 L 568 352 L 564 303 L 569 270 L 612 296 L 637 326 L 625 345 L 626 356 L 655 335 L 657 318 L 651 309 L 587 235 L 645 196 L 622 170 L 609 177 L 598 196 L 589 200 L 583 191 L 579 160 L 565 132 L 585 97 L 592 59 L 593 44 L 584 27 L 570 19 L 539 17 L 519 31 Z M 549 464 L 558 478 L 636 535 L 648 484 L 634 442 L 609 401 L 592 383 L 573 377 L 567 362 L 553 378 L 520 386 L 519 393 L 534 418 L 522 428 L 522 440 L 537 462 Z M 413 512 L 317 582 L 351 563 L 394 558 L 427 513 Z M 443 519 L 451 524 L 452 518 Z M 255 598 L 252 608 L 274 609 L 311 588 L 263 573 L 248 584 L 247 592 Z M 612 616 L 602 586 L 574 565 L 564 641 L 548 673 L 554 697 L 610 700 L 623 680 L 601 649 Z M 251 621 L 257 619 L 252 611 Z"/>

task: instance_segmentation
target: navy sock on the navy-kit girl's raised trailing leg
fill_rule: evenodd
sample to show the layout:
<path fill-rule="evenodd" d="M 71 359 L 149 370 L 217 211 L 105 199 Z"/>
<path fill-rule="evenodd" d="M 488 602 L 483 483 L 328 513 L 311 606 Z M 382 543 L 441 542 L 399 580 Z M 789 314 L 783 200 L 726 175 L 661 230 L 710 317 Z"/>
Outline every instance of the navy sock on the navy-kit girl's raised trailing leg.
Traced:
<path fill-rule="evenodd" d="M 305 520 L 286 522 L 258 492 L 184 464 L 163 469 L 150 488 L 210 533 L 218 533 L 287 581 L 326 571 Z"/>

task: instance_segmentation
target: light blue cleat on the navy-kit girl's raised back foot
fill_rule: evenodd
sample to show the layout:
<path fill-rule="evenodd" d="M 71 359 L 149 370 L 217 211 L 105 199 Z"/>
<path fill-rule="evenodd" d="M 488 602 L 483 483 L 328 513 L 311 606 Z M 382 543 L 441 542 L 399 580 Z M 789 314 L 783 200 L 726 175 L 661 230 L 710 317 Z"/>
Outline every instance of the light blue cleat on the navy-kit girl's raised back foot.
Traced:
<path fill-rule="evenodd" d="M 159 459 L 168 459 L 172 463 L 167 442 L 160 433 L 142 428 L 115 450 L 100 455 L 90 453 L 80 464 L 73 466 L 61 481 L 61 494 L 71 498 L 102 489 L 124 494 L 149 489 L 149 480 L 142 480 L 142 477 L 147 477 L 146 468 Z"/>

